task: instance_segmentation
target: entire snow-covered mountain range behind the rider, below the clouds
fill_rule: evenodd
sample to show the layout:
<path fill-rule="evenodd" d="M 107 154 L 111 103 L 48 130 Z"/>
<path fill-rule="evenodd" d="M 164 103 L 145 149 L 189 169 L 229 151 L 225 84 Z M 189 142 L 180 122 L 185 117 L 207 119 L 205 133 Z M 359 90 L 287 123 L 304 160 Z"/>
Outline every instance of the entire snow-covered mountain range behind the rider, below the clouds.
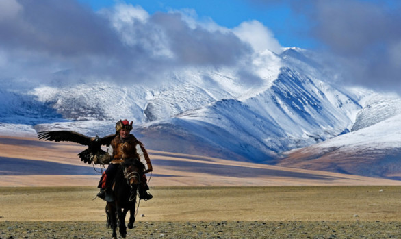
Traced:
<path fill-rule="evenodd" d="M 291 150 L 346 142 L 352 152 L 363 132 L 374 129 L 385 135 L 392 127 L 400 128 L 399 97 L 332 84 L 328 66 L 311 52 L 263 51 L 242 64 L 247 71 L 239 71 L 242 66 L 185 68 L 170 72 L 157 85 L 35 86 L 3 81 L 0 132 L 71 129 L 105 135 L 114 132 L 120 118 L 128 118 L 149 149 L 306 167 Z M 377 141 L 363 145 L 360 151 L 374 151 Z M 399 144 L 391 145 L 380 156 L 384 160 L 386 152 L 394 155 L 400 149 Z M 395 157 L 392 164 L 401 165 Z M 401 173 L 400 168 L 392 173 Z M 346 172 L 390 177 L 362 169 Z"/>

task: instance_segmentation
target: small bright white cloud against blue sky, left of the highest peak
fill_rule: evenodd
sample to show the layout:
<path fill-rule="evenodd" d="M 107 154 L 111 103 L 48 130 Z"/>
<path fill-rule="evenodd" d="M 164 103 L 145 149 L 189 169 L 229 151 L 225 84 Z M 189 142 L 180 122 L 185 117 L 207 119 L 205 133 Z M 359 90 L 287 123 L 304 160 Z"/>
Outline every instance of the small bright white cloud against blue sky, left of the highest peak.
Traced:
<path fill-rule="evenodd" d="M 259 21 L 253 20 L 241 23 L 233 29 L 233 32 L 242 41 L 248 42 L 256 52 L 266 49 L 274 53 L 283 51 L 279 41 L 274 38 L 273 32 Z"/>

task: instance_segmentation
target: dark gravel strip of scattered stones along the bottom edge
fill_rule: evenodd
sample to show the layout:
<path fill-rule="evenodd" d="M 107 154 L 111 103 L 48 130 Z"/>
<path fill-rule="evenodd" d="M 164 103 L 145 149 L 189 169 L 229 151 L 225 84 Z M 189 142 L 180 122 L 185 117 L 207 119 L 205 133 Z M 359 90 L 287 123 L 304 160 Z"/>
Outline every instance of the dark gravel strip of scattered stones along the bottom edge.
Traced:
<path fill-rule="evenodd" d="M 189 224 L 187 224 L 189 223 Z M 110 238 L 105 222 L 0 223 L 0 238 Z M 8 231 L 7 228 L 12 228 Z M 280 229 L 276 229 L 279 227 Z M 190 228 L 190 229 L 188 229 Z M 192 229 L 193 228 L 193 229 Z M 127 238 L 399 238 L 401 221 L 137 221 Z M 50 229 L 50 230 L 49 230 Z M 30 233 L 29 233 L 30 232 Z M 27 236 L 29 233 L 29 236 Z M 385 234 L 383 234 L 385 233 Z M 387 234 L 386 234 L 387 233 Z M 268 235 L 268 236 L 266 236 Z M 25 237 L 24 237 L 25 236 Z"/>

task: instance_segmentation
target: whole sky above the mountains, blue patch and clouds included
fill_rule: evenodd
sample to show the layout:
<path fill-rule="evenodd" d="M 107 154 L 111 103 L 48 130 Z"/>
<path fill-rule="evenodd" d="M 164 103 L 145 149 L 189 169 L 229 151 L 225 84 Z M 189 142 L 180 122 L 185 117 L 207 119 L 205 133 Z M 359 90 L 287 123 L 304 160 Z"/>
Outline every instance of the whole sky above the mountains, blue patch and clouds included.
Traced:
<path fill-rule="evenodd" d="M 144 81 L 283 47 L 330 55 L 346 82 L 401 93 L 398 0 L 0 1 L 0 80 Z"/>

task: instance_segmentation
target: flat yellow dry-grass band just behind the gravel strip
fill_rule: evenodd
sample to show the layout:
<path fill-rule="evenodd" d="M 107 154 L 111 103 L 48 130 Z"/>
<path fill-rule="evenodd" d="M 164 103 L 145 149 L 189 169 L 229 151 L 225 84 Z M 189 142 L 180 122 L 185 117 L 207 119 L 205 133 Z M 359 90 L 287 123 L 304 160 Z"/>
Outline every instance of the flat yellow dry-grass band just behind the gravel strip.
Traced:
<path fill-rule="evenodd" d="M 105 221 L 94 187 L 0 188 L 1 221 Z M 145 221 L 400 221 L 400 186 L 153 187 Z M 94 199 L 94 200 L 92 200 Z"/>

